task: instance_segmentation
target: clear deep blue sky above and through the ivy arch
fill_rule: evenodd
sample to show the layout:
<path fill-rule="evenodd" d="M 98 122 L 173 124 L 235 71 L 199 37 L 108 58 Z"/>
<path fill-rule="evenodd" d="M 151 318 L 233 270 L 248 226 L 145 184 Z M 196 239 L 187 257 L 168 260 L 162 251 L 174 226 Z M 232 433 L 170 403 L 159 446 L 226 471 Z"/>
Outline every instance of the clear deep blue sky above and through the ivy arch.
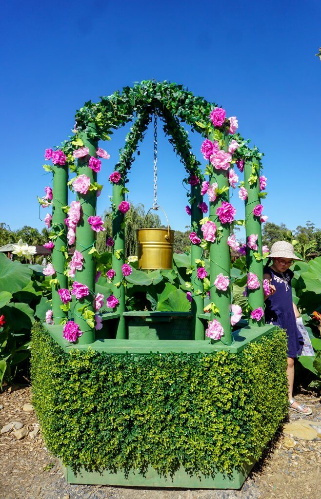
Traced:
<path fill-rule="evenodd" d="M 0 222 L 41 229 L 43 152 L 70 134 L 75 110 L 134 81 L 182 83 L 236 115 L 265 153 L 264 214 L 295 229 L 321 226 L 321 3 L 294 1 L 1 1 Z M 105 143 L 98 213 L 127 128 Z M 201 158 L 201 137 L 190 134 Z M 149 129 L 130 174 L 129 200 L 152 205 Z M 204 161 L 203 161 L 204 164 Z M 159 203 L 184 230 L 185 170 L 160 131 Z M 243 218 L 234 193 L 232 202 Z M 45 211 L 42 210 L 42 218 Z"/>

